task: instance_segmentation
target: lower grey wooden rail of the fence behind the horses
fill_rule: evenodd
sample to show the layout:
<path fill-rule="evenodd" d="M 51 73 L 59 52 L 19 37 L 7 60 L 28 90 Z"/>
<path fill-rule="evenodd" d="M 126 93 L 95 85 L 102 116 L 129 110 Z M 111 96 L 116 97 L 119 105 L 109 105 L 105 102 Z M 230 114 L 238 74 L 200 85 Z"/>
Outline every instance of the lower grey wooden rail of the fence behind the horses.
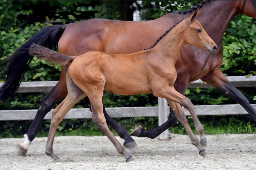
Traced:
<path fill-rule="evenodd" d="M 256 104 L 252 104 L 256 109 Z M 187 109 L 182 107 L 185 115 L 189 116 Z M 203 105 L 195 106 L 196 115 L 248 115 L 247 111 L 241 105 Z M 44 117 L 52 118 L 53 109 Z M 113 107 L 106 108 L 111 117 L 156 117 L 158 116 L 158 107 Z M 166 107 L 169 113 L 169 107 Z M 33 120 L 36 116 L 36 109 L 33 110 L 0 110 L 0 121 L 9 120 Z M 64 119 L 85 119 L 92 118 L 89 108 L 71 109 Z"/>

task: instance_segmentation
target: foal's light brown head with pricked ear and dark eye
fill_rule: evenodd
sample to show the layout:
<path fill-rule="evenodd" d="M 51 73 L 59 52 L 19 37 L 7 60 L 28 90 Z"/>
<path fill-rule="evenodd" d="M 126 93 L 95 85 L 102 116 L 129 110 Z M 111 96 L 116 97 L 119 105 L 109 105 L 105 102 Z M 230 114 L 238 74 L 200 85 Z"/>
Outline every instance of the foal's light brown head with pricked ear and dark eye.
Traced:
<path fill-rule="evenodd" d="M 209 35 L 204 31 L 204 28 L 196 20 L 199 13 L 199 9 L 196 10 L 194 14 L 185 19 L 183 23 L 186 25 L 185 28 L 185 41 L 187 44 L 197 46 L 208 54 L 212 54 L 217 50 L 215 42 L 209 37 Z"/>

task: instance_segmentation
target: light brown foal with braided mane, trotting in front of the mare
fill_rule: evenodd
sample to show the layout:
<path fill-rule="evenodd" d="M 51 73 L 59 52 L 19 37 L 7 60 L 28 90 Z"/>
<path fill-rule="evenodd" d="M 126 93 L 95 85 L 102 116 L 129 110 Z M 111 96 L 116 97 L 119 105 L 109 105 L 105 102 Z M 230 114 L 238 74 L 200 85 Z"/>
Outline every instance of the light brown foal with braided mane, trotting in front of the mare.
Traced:
<path fill-rule="evenodd" d="M 76 102 L 88 96 L 92 106 L 92 121 L 106 134 L 126 161 L 133 160 L 108 129 L 102 105 L 104 91 L 120 95 L 154 93 L 156 97 L 165 98 L 169 104 L 180 103 L 189 110 L 201 140 L 205 140 L 204 128 L 196 116 L 193 104 L 173 87 L 177 78 L 174 65 L 185 44 L 195 45 L 208 53 L 214 53 L 217 49 L 214 41 L 195 20 L 198 12 L 199 10 L 196 10 L 189 18 L 170 28 L 172 31 L 167 30 L 154 48 L 129 55 L 91 51 L 71 57 L 32 44 L 30 55 L 37 55 L 48 62 L 62 65 L 73 60 L 66 77 L 68 96 L 52 113 L 45 153 L 54 160 L 58 159 L 52 150 L 56 129 Z M 177 106 L 181 109 L 180 105 Z M 184 114 L 176 114 L 176 116 L 188 132 L 192 144 L 198 148 L 199 154 L 206 156 L 204 148 L 190 129 L 186 116 Z"/>

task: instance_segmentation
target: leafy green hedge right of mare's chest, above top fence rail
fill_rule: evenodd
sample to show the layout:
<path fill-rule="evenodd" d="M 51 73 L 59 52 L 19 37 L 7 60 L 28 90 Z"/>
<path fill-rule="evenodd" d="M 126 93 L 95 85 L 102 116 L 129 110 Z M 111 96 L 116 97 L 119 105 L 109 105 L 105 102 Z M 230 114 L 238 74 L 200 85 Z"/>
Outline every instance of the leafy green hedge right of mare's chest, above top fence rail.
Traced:
<path fill-rule="evenodd" d="M 244 15 L 234 20 L 223 36 L 221 71 L 238 73 L 236 75 L 256 75 L 255 20 Z"/>

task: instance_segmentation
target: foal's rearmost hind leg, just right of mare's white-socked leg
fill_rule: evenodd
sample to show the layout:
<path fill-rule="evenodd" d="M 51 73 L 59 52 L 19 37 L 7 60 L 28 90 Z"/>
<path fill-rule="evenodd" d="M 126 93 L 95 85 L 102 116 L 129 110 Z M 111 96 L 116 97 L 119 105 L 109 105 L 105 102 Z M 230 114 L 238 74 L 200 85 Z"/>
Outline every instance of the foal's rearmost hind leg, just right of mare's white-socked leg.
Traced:
<path fill-rule="evenodd" d="M 52 121 L 49 130 L 47 144 L 45 147 L 45 153 L 49 155 L 53 160 L 58 159 L 58 157 L 53 153 L 52 150 L 52 144 L 58 125 L 63 120 L 67 112 L 76 104 L 76 102 L 86 97 L 86 94 L 80 88 L 78 88 L 71 80 L 71 78 L 68 75 L 68 72 L 67 87 L 68 96 L 52 112 Z"/>

